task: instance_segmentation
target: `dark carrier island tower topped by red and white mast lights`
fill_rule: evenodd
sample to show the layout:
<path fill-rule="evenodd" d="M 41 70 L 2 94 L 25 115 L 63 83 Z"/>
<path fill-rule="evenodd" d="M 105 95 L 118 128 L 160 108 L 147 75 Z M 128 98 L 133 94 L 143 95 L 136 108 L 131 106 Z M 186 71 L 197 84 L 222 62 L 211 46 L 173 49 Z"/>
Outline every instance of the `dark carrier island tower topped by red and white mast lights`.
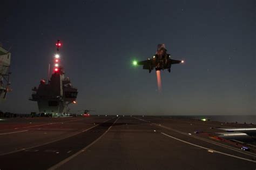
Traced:
<path fill-rule="evenodd" d="M 62 43 L 56 43 L 57 53 L 54 57 L 53 72 L 51 78 L 46 82 L 41 79 L 38 87 L 32 88 L 32 98 L 37 101 L 38 110 L 41 114 L 58 117 L 69 114 L 68 105 L 76 103 L 77 89 L 71 85 L 68 77 L 65 77 L 64 68 L 60 65 L 59 47 Z"/>

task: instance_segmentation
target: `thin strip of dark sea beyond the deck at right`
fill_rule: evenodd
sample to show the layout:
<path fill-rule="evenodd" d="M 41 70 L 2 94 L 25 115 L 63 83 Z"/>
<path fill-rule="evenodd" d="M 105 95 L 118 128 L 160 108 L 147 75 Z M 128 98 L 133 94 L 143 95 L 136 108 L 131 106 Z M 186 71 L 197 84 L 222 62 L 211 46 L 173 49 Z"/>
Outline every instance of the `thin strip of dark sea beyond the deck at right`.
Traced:
<path fill-rule="evenodd" d="M 211 121 L 220 121 L 239 124 L 256 124 L 256 115 L 184 115 L 184 116 L 173 116 L 188 119 L 210 119 Z"/>

